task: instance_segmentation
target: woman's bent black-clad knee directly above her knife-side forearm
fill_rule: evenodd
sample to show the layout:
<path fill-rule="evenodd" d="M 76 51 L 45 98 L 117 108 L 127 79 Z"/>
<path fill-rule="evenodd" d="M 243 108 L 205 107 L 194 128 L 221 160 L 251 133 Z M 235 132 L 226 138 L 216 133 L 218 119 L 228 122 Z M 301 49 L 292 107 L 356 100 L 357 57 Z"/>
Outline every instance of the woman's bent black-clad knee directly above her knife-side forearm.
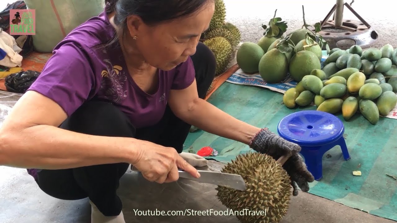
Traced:
<path fill-rule="evenodd" d="M 81 105 L 60 128 L 89 135 L 135 137 L 135 127 L 121 110 L 96 100 Z"/>

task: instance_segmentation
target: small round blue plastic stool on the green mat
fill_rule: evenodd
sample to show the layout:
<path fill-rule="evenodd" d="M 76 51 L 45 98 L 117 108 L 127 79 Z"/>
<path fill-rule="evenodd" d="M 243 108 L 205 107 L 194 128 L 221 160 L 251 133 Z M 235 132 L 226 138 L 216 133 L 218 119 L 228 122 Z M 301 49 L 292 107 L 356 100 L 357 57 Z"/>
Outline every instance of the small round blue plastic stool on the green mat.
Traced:
<path fill-rule="evenodd" d="M 301 146 L 301 154 L 316 181 L 322 179 L 323 155 L 339 145 L 343 158 L 349 160 L 343 133 L 343 122 L 331 113 L 320 111 L 301 111 L 287 115 L 278 124 L 278 134 L 285 140 Z"/>

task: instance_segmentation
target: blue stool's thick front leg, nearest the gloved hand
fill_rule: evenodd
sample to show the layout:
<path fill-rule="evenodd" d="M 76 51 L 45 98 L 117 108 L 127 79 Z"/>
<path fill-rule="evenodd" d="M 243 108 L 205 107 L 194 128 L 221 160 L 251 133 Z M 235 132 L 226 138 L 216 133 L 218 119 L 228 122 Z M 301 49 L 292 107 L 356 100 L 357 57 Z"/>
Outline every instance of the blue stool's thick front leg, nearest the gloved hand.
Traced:
<path fill-rule="evenodd" d="M 307 170 L 312 173 L 316 181 L 322 179 L 322 157 L 324 153 L 319 151 L 321 151 L 321 147 L 311 148 L 310 150 L 302 147 L 300 152 L 304 157 Z"/>

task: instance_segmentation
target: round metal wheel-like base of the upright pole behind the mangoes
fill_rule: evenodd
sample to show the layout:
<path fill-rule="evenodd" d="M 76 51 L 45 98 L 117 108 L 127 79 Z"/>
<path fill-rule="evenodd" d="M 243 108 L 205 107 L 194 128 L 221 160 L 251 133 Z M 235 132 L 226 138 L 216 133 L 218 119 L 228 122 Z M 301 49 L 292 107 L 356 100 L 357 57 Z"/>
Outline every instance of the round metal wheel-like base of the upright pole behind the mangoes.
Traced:
<path fill-rule="evenodd" d="M 333 23 L 333 20 L 328 20 L 328 23 L 321 28 L 318 34 L 328 42 L 331 49 L 346 50 L 355 44 L 361 46 L 361 48 L 368 48 L 378 41 L 378 33 L 372 27 L 366 27 L 361 21 L 344 19 L 342 25 L 347 29 L 336 28 L 329 23 Z M 348 30 L 349 28 L 350 30 Z M 312 31 L 314 32 L 314 29 Z M 343 44 L 343 40 L 353 40 L 355 43 Z"/>

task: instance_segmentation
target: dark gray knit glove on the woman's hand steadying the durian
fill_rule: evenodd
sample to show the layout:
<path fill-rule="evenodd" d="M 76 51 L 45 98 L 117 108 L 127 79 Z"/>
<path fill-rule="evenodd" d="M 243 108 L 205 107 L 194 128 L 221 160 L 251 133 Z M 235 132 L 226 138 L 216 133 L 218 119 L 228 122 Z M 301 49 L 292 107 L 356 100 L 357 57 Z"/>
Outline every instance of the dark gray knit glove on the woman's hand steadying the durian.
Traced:
<path fill-rule="evenodd" d="M 269 131 L 269 129 L 263 128 L 252 138 L 249 146 L 256 152 L 272 156 L 275 160 L 285 154 L 292 154 L 284 163 L 283 168 L 291 179 L 293 196 L 298 195 L 297 185 L 302 191 L 309 191 L 308 182 L 313 182 L 314 177 L 307 170 L 306 164 L 298 154 L 301 151 L 301 147 L 298 144 L 289 142 Z"/>

